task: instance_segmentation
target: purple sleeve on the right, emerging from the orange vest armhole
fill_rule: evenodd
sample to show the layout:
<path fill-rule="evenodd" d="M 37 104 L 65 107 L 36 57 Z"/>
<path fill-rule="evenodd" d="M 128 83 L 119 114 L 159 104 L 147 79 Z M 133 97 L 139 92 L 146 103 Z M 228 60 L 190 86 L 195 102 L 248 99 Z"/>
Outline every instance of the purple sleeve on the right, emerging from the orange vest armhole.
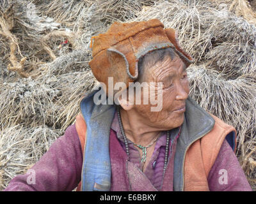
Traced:
<path fill-rule="evenodd" d="M 210 191 L 252 191 L 236 154 L 224 140 L 208 176 Z"/>

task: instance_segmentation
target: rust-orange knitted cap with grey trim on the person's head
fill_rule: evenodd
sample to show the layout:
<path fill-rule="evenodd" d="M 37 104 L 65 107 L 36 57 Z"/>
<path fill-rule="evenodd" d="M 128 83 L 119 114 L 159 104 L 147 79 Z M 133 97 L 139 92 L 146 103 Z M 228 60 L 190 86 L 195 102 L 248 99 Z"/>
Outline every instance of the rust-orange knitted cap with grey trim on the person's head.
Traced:
<path fill-rule="evenodd" d="M 172 47 L 186 67 L 193 62 L 191 55 L 180 47 L 175 30 L 164 29 L 157 19 L 115 22 L 106 33 L 93 36 L 92 41 L 93 59 L 89 66 L 95 78 L 107 85 L 107 92 L 108 77 L 113 77 L 114 84 L 124 82 L 127 87 L 134 82 L 138 78 L 140 57 L 153 50 Z"/>

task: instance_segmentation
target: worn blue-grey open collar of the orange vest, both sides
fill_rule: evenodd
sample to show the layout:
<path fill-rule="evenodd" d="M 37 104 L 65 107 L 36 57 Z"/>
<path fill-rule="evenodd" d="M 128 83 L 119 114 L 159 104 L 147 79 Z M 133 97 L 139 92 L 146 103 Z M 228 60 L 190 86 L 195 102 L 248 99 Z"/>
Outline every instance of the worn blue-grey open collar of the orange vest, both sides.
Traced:
<path fill-rule="evenodd" d="M 109 131 L 115 115 L 115 105 L 95 105 L 92 91 L 80 101 L 80 111 L 86 122 L 86 143 L 81 175 L 82 191 L 109 191 L 111 162 L 109 157 Z M 212 130 L 215 120 L 191 97 L 186 100 L 174 160 L 173 189 L 184 191 L 184 160 L 189 146 Z M 86 159 L 85 159 L 86 158 Z"/>

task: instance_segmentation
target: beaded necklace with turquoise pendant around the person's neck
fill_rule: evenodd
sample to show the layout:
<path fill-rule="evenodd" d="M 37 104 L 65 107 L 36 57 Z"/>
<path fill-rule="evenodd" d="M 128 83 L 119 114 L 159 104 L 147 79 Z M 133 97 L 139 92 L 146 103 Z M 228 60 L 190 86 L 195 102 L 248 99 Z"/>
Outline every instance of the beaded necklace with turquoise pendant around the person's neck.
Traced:
<path fill-rule="evenodd" d="M 130 153 L 129 153 L 127 137 L 125 136 L 125 131 L 124 131 L 124 127 L 123 127 L 123 124 L 122 124 L 122 119 L 121 119 L 120 108 L 119 107 L 117 108 L 117 117 L 118 117 L 118 123 L 119 123 L 119 126 L 120 126 L 120 130 L 121 130 L 122 136 L 124 138 L 125 150 L 126 150 L 126 154 L 127 154 L 127 157 L 128 157 L 128 161 L 130 161 Z M 157 139 L 158 138 L 156 138 L 156 140 Z M 136 145 L 137 147 L 142 149 L 143 156 L 141 158 L 141 163 L 145 163 L 146 156 L 147 156 L 147 148 L 150 147 L 151 145 L 153 145 L 156 142 L 156 140 L 154 140 L 154 142 L 152 142 L 149 145 L 147 145 L 147 147 L 144 147 L 142 145 L 138 145 L 138 144 L 132 142 L 134 145 Z M 167 131 L 166 147 L 165 147 L 165 154 L 164 154 L 164 170 L 163 170 L 163 173 L 166 170 L 166 166 L 167 166 L 167 163 L 168 163 L 169 142 L 170 142 L 170 132 Z"/>

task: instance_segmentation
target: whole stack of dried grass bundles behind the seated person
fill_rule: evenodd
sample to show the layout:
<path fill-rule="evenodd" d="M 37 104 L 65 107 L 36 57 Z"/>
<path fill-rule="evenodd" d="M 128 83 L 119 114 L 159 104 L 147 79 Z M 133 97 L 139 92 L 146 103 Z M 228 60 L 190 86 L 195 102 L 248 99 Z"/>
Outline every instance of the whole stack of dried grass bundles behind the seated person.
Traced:
<path fill-rule="evenodd" d="M 236 127 L 256 189 L 256 21 L 246 0 L 0 2 L 0 190 L 38 161 L 95 85 L 90 38 L 114 21 L 159 18 L 196 59 L 190 96 Z M 63 43 L 63 42 L 67 43 Z M 61 45 L 61 46 L 60 46 Z"/>

